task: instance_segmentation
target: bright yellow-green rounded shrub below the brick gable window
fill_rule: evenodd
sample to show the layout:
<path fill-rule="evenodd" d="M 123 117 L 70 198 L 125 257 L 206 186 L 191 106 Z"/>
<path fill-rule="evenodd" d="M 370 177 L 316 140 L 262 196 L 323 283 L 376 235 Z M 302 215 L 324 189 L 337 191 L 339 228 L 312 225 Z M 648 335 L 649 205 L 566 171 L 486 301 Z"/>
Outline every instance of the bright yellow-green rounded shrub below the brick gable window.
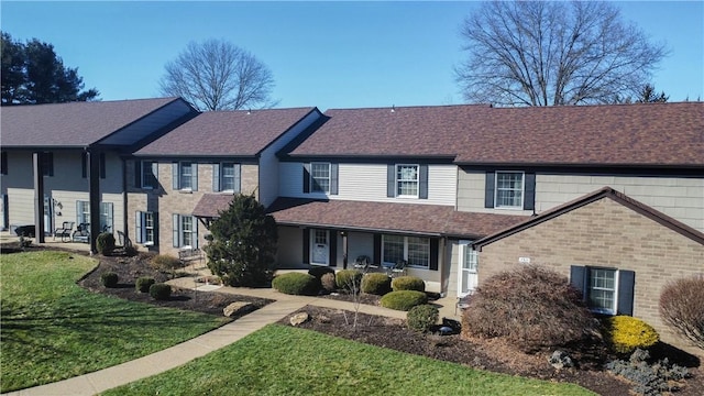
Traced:
<path fill-rule="evenodd" d="M 618 353 L 648 349 L 660 341 L 660 336 L 650 324 L 638 318 L 623 315 L 604 319 L 604 338 Z"/>

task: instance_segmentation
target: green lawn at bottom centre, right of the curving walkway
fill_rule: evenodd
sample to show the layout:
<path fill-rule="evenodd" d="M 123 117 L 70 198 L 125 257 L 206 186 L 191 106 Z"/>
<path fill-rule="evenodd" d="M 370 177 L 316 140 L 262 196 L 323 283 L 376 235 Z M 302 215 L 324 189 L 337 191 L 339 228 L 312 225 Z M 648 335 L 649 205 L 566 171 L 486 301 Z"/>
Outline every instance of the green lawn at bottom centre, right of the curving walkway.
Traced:
<path fill-rule="evenodd" d="M 270 324 L 224 349 L 103 395 L 593 395 Z"/>

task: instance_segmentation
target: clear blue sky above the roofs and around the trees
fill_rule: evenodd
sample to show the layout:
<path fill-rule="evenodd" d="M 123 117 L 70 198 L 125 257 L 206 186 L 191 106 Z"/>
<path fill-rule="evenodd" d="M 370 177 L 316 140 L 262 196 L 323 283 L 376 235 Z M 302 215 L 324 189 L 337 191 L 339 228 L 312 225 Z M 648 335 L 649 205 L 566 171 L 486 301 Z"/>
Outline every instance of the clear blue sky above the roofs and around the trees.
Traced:
<path fill-rule="evenodd" d="M 670 101 L 704 100 L 704 2 L 617 2 L 671 55 L 653 76 Z M 279 107 L 457 105 L 459 31 L 476 2 L 25 2 L 1 0 L 1 29 L 36 37 L 102 100 L 158 97 L 189 41 L 224 38 L 273 72 Z"/>

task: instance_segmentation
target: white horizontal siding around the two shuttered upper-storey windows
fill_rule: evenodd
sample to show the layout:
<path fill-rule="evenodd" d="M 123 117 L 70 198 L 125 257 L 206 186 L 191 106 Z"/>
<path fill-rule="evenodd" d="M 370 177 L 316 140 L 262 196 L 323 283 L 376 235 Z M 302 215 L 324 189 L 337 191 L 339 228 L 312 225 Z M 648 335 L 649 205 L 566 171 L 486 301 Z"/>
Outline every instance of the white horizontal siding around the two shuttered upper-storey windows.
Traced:
<path fill-rule="evenodd" d="M 286 162 L 279 164 L 282 197 L 307 198 L 302 187 L 301 163 Z M 360 200 L 375 202 L 398 202 L 398 199 L 386 196 L 386 164 L 349 164 L 340 163 L 338 170 L 338 195 L 329 195 L 329 199 Z M 406 201 L 420 205 L 454 206 L 457 197 L 457 166 L 428 165 L 428 199 Z"/>

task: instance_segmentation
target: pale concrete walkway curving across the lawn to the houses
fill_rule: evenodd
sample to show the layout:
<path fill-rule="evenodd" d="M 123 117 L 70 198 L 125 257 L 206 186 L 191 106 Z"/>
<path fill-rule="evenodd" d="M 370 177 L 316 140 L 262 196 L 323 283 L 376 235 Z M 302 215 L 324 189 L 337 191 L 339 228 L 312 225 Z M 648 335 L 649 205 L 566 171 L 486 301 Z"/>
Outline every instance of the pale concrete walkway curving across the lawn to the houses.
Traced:
<path fill-rule="evenodd" d="M 170 280 L 169 284 L 184 288 L 194 288 L 196 285 L 193 277 L 177 278 Z M 152 353 L 151 355 L 146 355 L 144 358 L 125 362 L 112 367 L 103 369 L 94 373 L 80 375 L 47 385 L 12 392 L 7 395 L 95 395 L 113 387 L 129 384 L 131 382 L 155 374 L 160 374 L 167 370 L 188 363 L 196 358 L 200 358 L 217 349 L 227 346 L 242 339 L 243 337 L 263 328 L 266 324 L 274 323 L 307 305 L 315 305 L 332 309 L 354 310 L 352 302 L 349 301 L 339 301 L 316 297 L 289 296 L 280 294 L 271 288 L 251 289 L 220 287 L 218 288 L 218 292 L 270 298 L 276 301 L 261 309 L 257 309 L 254 312 L 249 314 L 231 323 L 222 326 L 216 330 L 196 337 L 195 339 L 188 340 L 180 344 L 174 345 L 156 353 Z M 361 305 L 360 311 L 364 314 L 387 316 L 393 318 L 406 318 L 405 311 L 397 311 L 369 305 Z"/>

